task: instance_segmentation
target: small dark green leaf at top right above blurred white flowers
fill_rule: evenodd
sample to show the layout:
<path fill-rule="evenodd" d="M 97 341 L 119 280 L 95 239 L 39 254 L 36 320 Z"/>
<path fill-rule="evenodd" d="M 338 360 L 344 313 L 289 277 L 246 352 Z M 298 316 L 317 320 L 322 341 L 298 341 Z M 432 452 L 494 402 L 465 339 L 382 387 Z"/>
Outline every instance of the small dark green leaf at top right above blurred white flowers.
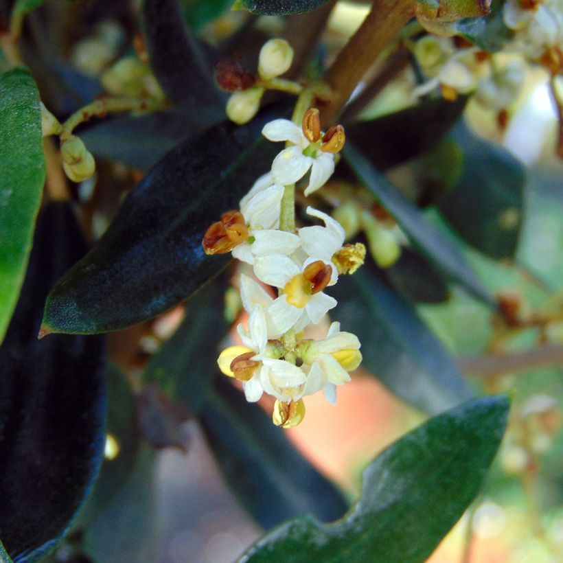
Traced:
<path fill-rule="evenodd" d="M 503 5 L 503 0 L 492 0 L 487 16 L 459 20 L 455 30 L 485 51 L 500 51 L 514 36 L 503 21 Z"/>

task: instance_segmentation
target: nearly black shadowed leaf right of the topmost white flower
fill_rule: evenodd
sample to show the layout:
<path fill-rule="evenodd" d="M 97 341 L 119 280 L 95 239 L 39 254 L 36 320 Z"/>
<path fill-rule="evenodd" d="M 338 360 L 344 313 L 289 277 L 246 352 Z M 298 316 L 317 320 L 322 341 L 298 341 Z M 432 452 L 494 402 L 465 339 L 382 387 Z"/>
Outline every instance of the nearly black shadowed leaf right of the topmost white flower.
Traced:
<path fill-rule="evenodd" d="M 346 124 L 346 138 L 362 147 L 380 170 L 387 170 L 437 144 L 457 122 L 467 99 L 426 100 L 417 106 L 366 122 Z"/>

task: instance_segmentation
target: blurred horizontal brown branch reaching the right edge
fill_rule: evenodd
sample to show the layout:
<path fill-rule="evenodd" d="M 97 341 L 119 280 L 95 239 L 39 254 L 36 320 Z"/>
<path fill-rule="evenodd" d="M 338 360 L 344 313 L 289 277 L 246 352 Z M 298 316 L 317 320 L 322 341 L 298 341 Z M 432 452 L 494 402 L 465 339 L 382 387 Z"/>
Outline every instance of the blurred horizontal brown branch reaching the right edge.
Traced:
<path fill-rule="evenodd" d="M 464 374 L 483 378 L 535 367 L 563 366 L 563 345 L 544 344 L 524 352 L 461 357 L 457 364 Z"/>

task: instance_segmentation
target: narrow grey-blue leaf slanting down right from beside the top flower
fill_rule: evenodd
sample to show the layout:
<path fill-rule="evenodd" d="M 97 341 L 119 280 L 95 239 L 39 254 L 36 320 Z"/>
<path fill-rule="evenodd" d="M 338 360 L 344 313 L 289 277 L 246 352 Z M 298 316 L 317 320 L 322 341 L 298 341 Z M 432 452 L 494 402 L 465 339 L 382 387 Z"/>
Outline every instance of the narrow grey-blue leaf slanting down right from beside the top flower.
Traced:
<path fill-rule="evenodd" d="M 380 200 L 380 203 L 399 222 L 404 232 L 428 259 L 461 284 L 474 297 L 494 306 L 494 300 L 481 281 L 446 238 L 426 219 L 422 211 L 406 200 L 352 143 L 346 143 L 344 156 L 358 180 Z"/>

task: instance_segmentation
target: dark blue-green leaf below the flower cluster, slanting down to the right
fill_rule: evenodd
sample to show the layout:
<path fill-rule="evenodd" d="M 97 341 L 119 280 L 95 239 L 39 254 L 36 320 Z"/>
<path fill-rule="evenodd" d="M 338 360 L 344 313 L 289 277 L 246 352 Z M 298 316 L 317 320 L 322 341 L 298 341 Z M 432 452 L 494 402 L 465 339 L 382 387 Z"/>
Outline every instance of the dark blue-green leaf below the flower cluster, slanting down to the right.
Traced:
<path fill-rule="evenodd" d="M 225 480 L 262 527 L 304 513 L 327 521 L 346 512 L 336 487 L 312 468 L 260 406 L 246 402 L 224 378 L 216 380 L 199 420 Z"/>

